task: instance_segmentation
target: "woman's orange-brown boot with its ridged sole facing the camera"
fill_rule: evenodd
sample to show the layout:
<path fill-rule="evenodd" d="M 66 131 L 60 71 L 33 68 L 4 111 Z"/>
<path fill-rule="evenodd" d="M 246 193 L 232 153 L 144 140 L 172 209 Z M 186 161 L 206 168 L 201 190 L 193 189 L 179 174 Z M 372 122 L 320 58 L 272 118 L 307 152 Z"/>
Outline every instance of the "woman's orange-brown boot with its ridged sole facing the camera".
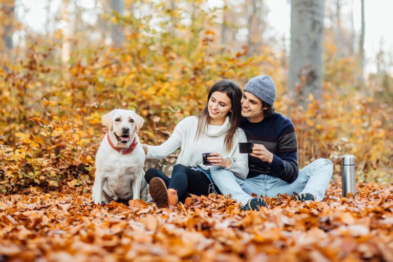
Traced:
<path fill-rule="evenodd" d="M 158 208 L 176 206 L 178 204 L 178 191 L 166 188 L 164 180 L 152 178 L 149 183 L 151 198 L 156 202 Z"/>

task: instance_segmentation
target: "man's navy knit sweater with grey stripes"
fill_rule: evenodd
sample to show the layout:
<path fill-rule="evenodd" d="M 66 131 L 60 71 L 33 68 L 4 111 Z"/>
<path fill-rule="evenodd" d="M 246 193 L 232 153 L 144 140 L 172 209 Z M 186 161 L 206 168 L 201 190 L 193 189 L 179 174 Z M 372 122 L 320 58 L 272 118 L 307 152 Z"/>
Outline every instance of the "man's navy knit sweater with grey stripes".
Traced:
<path fill-rule="evenodd" d="M 251 123 L 243 118 L 240 127 L 249 142 L 263 144 L 273 153 L 271 164 L 249 155 L 247 178 L 268 174 L 288 183 L 297 179 L 297 138 L 295 127 L 289 118 L 278 113 L 265 117 L 258 123 Z"/>

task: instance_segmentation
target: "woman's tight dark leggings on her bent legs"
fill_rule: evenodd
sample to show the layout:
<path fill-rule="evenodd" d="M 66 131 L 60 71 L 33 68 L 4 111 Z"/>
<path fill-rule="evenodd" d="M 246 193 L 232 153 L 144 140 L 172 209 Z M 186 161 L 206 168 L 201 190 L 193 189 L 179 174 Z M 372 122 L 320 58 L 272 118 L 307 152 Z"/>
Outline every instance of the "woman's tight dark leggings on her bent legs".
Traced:
<path fill-rule="evenodd" d="M 167 188 L 178 190 L 179 201 L 183 203 L 184 200 L 190 196 L 190 193 L 208 195 L 209 185 L 211 184 L 206 174 L 181 164 L 177 164 L 173 167 L 171 178 L 168 178 L 155 168 L 150 168 L 145 173 L 147 184 L 150 184 L 152 178 L 161 178 L 164 180 Z"/>

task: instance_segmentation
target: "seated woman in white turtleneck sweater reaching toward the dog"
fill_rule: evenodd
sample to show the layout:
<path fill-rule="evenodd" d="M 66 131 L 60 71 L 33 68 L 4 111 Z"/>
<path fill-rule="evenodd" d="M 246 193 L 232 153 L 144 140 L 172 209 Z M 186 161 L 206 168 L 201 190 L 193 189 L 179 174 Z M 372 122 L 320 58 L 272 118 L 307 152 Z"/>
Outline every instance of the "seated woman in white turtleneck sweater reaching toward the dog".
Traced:
<path fill-rule="evenodd" d="M 215 83 L 207 96 L 207 104 L 198 116 L 180 121 L 173 134 L 159 146 L 142 145 L 146 157 L 162 159 L 181 147 L 176 165 L 169 179 L 151 168 L 145 174 L 151 198 L 157 207 L 176 206 L 191 194 L 216 193 L 210 166 L 226 168 L 235 174 L 248 173 L 248 155 L 240 154 L 239 142 L 246 142 L 241 120 L 242 90 L 231 80 Z M 204 165 L 202 154 L 209 152 Z M 167 189 L 168 188 L 168 189 Z"/>

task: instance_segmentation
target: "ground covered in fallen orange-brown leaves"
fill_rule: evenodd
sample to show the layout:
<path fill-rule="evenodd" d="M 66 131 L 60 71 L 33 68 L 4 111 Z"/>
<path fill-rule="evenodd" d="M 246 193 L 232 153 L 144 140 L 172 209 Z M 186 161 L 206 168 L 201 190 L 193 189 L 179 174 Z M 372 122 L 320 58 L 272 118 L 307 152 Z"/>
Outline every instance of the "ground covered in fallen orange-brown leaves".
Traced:
<path fill-rule="evenodd" d="M 223 196 L 157 209 L 90 204 L 77 189 L 0 198 L 0 261 L 393 261 L 393 185 L 358 185 L 325 202 L 280 195 L 242 211 Z"/>

